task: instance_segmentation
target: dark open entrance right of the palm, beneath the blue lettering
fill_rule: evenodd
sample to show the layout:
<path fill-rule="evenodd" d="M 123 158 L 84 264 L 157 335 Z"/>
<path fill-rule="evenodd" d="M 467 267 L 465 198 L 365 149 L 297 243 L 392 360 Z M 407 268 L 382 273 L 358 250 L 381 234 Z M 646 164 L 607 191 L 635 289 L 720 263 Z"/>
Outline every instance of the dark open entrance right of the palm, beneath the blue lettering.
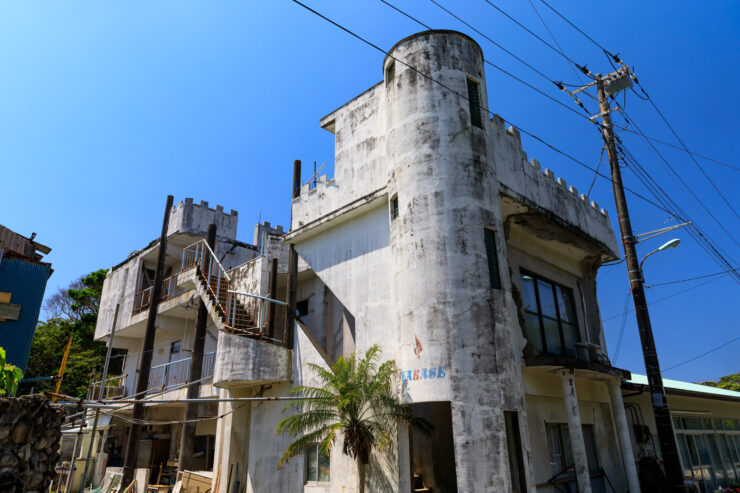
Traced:
<path fill-rule="evenodd" d="M 452 441 L 452 408 L 449 402 L 411 404 L 414 417 L 434 427 L 429 434 L 411 429 L 413 491 L 457 493 L 455 447 Z"/>

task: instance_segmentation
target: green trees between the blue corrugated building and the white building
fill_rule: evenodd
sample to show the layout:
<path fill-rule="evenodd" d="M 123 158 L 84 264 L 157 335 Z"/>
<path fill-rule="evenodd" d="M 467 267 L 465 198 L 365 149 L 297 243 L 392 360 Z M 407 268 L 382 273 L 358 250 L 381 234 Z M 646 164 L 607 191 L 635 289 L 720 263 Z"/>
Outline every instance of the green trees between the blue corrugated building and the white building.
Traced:
<path fill-rule="evenodd" d="M 56 375 L 67 338 L 72 334 L 72 346 L 60 392 L 84 397 L 90 375 L 97 373 L 100 377 L 107 348 L 105 343 L 95 342 L 93 336 L 106 272 L 104 269 L 92 272 L 47 300 L 44 308 L 51 316 L 47 321 L 40 322 L 34 333 L 26 371 L 29 376 Z M 118 353 L 115 350 L 113 352 L 109 375 L 121 371 L 122 361 Z M 36 386 L 37 390 L 49 390 L 39 388 L 39 384 Z M 30 391 L 30 386 L 24 385 L 24 390 Z"/>

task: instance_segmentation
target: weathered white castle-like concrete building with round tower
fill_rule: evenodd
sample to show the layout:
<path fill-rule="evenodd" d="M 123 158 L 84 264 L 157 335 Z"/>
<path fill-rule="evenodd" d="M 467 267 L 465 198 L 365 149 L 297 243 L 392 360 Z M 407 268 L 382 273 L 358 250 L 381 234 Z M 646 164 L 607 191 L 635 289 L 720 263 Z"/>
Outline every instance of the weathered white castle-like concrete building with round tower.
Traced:
<path fill-rule="evenodd" d="M 235 211 L 191 199 L 173 209 L 150 376 L 152 392 L 167 392 L 152 400 L 184 396 L 180 367 L 203 300 L 213 376 L 204 397 L 286 396 L 314 381 L 308 363 L 328 368 L 373 344 L 398 363 L 399 397 L 435 428 L 399 429 L 393 453 L 372 458 L 368 491 L 639 491 L 639 423 L 621 390 L 630 373 L 609 361 L 596 296 L 598 268 L 619 255 L 606 212 L 487 118 L 496 98 L 471 38 L 426 31 L 390 53 L 380 83 L 321 119 L 335 136 L 335 176 L 301 186 L 298 166 L 289 231 L 258 225 L 249 245 L 236 241 Z M 211 222 L 213 254 L 203 242 Z M 156 250 L 134 252 L 104 287 L 95 337 L 116 326 L 126 394 Z M 295 323 L 282 304 L 292 289 Z M 212 491 L 356 491 L 341 446 L 277 470 L 290 441 L 275 435 L 282 409 L 201 410 L 213 418 L 197 430 Z M 148 406 L 152 420 L 183 412 Z M 156 474 L 177 456 L 178 426 L 146 431 L 141 467 Z"/>

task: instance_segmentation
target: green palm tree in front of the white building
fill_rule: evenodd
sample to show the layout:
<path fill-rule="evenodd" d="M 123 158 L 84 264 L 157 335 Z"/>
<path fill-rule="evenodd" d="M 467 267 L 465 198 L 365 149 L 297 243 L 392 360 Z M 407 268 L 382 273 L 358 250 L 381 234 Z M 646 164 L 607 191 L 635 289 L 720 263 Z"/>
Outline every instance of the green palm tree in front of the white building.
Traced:
<path fill-rule="evenodd" d="M 288 404 L 292 414 L 280 421 L 277 433 L 296 439 L 288 445 L 278 462 L 278 469 L 293 457 L 316 446 L 329 455 L 334 441 L 344 437 L 342 453 L 357 461 L 359 491 L 365 491 L 365 474 L 373 450 L 386 451 L 394 443 L 399 421 L 428 429 L 429 424 L 413 418 L 408 407 L 401 405 L 393 390 L 393 378 L 398 371 L 393 360 L 378 365 L 380 348 L 373 345 L 365 356 L 340 357 L 331 370 L 309 364 L 320 386 L 300 385 L 293 395 L 304 399 Z"/>

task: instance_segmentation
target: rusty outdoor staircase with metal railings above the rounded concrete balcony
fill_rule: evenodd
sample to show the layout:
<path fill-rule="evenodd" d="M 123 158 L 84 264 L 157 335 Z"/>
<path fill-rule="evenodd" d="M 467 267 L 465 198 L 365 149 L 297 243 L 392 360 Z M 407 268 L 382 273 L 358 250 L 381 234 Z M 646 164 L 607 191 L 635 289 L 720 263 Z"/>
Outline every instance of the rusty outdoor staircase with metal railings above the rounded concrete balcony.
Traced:
<path fill-rule="evenodd" d="M 285 303 L 263 296 L 241 293 L 231 289 L 231 276 L 205 242 L 197 241 L 183 250 L 182 272 L 193 277 L 195 290 L 208 308 L 211 318 L 220 330 L 286 345 L 285 330 L 268 330 L 267 303 L 285 307 Z M 269 313 L 274 317 L 275 310 Z M 277 333 L 276 333 L 277 332 Z"/>

